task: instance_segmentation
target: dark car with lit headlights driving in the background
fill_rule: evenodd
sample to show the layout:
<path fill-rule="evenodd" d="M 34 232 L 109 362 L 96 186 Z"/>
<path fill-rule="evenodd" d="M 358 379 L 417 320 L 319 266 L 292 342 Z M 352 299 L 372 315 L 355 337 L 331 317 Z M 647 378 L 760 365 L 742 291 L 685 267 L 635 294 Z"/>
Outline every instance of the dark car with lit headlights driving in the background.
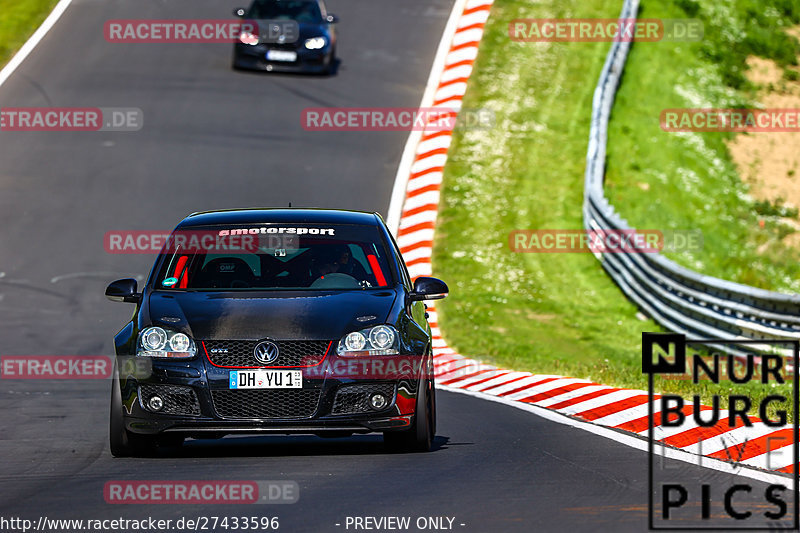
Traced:
<path fill-rule="evenodd" d="M 331 73 L 336 65 L 336 15 L 322 0 L 254 0 L 234 15 L 257 30 L 242 31 L 233 68 Z"/>

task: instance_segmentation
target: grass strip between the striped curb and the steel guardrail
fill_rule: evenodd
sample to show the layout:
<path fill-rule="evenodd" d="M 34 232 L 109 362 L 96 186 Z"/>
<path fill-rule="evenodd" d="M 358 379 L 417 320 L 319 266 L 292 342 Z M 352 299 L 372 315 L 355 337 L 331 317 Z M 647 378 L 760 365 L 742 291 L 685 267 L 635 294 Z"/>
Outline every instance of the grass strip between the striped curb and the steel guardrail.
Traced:
<path fill-rule="evenodd" d="M 512 42 L 508 23 L 515 18 L 615 17 L 620 8 L 619 0 L 495 2 L 464 107 L 494 111 L 497 124 L 488 132 L 455 133 L 433 266 L 450 284 L 450 296 L 437 310 L 454 349 L 506 368 L 646 388 L 641 333 L 660 328 L 637 317 L 637 309 L 599 262 L 586 253 L 513 253 L 508 247 L 509 232 L 515 229 L 583 227 L 591 100 L 609 46 Z M 659 58 L 675 60 L 669 54 Z M 642 83 L 670 89 L 670 82 L 660 78 L 662 65 L 651 62 L 649 67 L 647 75 L 654 80 Z M 636 74 L 628 79 L 635 81 Z M 629 100 L 637 92 L 631 85 L 624 88 Z M 663 102 L 653 105 L 664 107 Z M 612 144 L 625 124 L 615 116 L 614 127 Z M 618 161 L 622 149 L 614 144 L 614 150 Z M 727 223 L 719 213 L 713 216 Z M 767 393 L 764 387 L 751 389 L 754 398 Z M 698 393 L 708 402 L 712 394 L 727 395 L 729 387 L 668 381 L 660 390 Z"/>

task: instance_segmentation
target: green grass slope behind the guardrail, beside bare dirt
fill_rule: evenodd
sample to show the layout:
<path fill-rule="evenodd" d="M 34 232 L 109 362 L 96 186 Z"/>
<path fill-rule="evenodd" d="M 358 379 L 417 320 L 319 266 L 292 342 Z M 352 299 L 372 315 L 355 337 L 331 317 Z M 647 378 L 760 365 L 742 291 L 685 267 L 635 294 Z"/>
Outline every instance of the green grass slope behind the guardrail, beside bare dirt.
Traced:
<path fill-rule="evenodd" d="M 645 1 L 640 16 L 698 17 L 705 38 L 633 47 L 609 126 L 609 200 L 634 227 L 700 229 L 702 249 L 666 254 L 683 266 L 800 291 L 800 252 L 781 241 L 794 231 L 781 217 L 796 218 L 797 210 L 748 196 L 725 144 L 734 134 L 667 133 L 659 126 L 666 108 L 751 107 L 745 60 L 757 54 L 796 63 L 800 45 L 782 30 L 800 20 L 800 4 Z"/>

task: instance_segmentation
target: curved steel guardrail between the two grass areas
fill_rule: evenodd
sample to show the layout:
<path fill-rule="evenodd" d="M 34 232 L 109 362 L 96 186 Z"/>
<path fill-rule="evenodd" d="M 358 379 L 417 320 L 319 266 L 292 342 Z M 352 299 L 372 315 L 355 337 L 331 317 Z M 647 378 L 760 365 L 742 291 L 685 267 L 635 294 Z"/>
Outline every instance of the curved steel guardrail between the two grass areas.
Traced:
<path fill-rule="evenodd" d="M 620 19 L 634 19 L 639 0 L 625 0 Z M 613 42 L 592 100 L 586 155 L 583 221 L 587 231 L 630 231 L 603 192 L 608 122 L 631 42 Z M 774 345 L 736 340 L 800 339 L 800 295 L 782 294 L 706 276 L 661 253 L 595 253 L 603 268 L 633 303 L 664 328 L 692 338 L 731 339 L 713 348 L 734 355 Z"/>

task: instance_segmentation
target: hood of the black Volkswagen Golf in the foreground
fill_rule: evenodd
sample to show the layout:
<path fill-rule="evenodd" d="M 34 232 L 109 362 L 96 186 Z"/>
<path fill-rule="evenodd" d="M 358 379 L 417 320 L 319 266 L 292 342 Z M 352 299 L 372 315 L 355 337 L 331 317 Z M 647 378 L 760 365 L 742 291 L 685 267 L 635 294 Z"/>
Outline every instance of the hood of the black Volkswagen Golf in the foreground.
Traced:
<path fill-rule="evenodd" d="M 149 297 L 150 323 L 198 340 L 336 340 L 386 322 L 395 290 L 168 292 Z"/>

